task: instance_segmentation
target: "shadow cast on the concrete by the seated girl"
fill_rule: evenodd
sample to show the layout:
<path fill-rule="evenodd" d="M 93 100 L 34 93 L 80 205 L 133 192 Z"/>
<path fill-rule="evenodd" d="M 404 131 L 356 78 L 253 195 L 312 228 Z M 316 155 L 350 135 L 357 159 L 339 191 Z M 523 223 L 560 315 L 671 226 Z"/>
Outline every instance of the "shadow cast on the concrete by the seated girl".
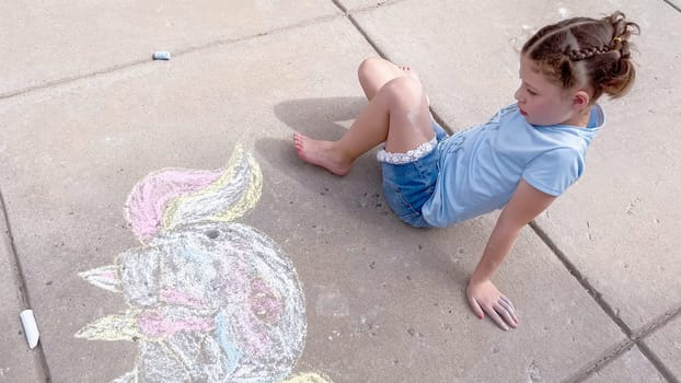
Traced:
<path fill-rule="evenodd" d="M 276 116 L 289 126 L 292 131 L 299 131 L 320 139 L 337 139 L 346 128 L 337 121 L 348 121 L 366 105 L 363 97 L 330 97 L 330 98 L 300 98 L 275 105 Z M 469 275 L 451 262 L 451 248 L 446 245 L 449 241 L 443 237 L 474 235 L 470 227 L 453 227 L 449 229 L 415 229 L 401 222 L 391 211 L 383 199 L 381 187 L 380 165 L 376 161 L 376 151 L 357 159 L 353 170 L 339 177 L 327 171 L 302 162 L 292 144 L 292 131 L 289 139 L 262 138 L 256 140 L 254 149 L 262 163 L 264 172 L 286 174 L 297 187 L 302 186 L 308 195 L 324 195 L 324 209 L 342 210 L 357 219 L 358 227 L 369 229 L 370 235 L 390 235 L 396 241 L 418 241 L 427 246 L 431 256 L 424 259 L 422 265 L 431 269 L 445 271 L 462 291 L 468 283 Z M 379 229 L 380 228 L 380 229 Z M 449 288 L 452 287 L 442 287 Z"/>

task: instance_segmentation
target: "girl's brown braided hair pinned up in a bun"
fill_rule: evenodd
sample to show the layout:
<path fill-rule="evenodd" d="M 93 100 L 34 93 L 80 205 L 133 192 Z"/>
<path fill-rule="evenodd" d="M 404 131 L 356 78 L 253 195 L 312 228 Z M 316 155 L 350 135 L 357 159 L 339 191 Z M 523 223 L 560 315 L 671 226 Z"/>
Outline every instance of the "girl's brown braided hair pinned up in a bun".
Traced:
<path fill-rule="evenodd" d="M 522 54 L 563 89 L 589 85 L 592 102 L 603 93 L 616 98 L 634 84 L 628 39 L 639 33 L 638 24 L 620 11 L 602 19 L 573 18 L 541 28 Z"/>

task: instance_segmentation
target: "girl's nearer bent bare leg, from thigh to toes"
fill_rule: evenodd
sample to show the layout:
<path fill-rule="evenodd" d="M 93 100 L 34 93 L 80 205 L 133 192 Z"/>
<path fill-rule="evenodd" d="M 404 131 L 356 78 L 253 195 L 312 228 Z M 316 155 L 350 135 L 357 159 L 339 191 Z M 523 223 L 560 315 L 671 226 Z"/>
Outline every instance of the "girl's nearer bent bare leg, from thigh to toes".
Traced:
<path fill-rule="evenodd" d="M 380 80 L 374 80 L 365 91 L 372 91 L 379 83 Z M 338 141 L 313 140 L 295 134 L 298 155 L 305 162 L 344 175 L 355 159 L 383 141 L 386 151 L 404 153 L 432 139 L 428 102 L 417 79 L 393 78 L 376 94 L 367 96 L 369 104 Z"/>

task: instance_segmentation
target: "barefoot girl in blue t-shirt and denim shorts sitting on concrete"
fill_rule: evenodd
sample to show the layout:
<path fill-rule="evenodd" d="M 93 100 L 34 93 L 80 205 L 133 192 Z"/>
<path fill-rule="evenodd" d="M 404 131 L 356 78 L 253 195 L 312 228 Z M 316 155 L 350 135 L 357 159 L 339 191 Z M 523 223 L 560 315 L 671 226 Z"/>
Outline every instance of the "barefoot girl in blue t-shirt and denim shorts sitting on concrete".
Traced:
<path fill-rule="evenodd" d="M 522 227 L 544 211 L 579 176 L 586 150 L 603 126 L 596 101 L 624 95 L 633 85 L 630 36 L 637 24 L 622 12 L 575 18 L 541 28 L 522 47 L 517 103 L 487 124 L 447 137 L 432 120 L 428 97 L 408 68 L 379 58 L 359 67 L 369 104 L 337 141 L 293 135 L 305 162 L 344 175 L 362 153 L 384 142 L 385 200 L 417 228 L 447 227 L 503 211 L 466 297 L 482 320 L 517 327 L 511 301 L 492 283 Z"/>

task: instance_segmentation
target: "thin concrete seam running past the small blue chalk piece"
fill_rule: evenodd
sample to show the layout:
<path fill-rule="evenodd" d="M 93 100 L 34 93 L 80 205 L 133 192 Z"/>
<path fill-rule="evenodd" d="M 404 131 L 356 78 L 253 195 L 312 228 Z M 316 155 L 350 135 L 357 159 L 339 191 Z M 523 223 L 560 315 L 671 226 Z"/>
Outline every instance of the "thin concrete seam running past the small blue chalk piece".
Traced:
<path fill-rule="evenodd" d="M 302 22 L 293 23 L 293 24 L 290 24 L 290 25 L 276 27 L 276 28 L 273 28 L 273 30 L 269 30 L 269 31 L 259 32 L 259 33 L 256 33 L 256 34 L 243 36 L 243 37 L 217 39 L 217 40 L 209 42 L 209 43 L 206 43 L 206 44 L 203 44 L 203 45 L 197 45 L 197 46 L 187 47 L 187 48 L 183 48 L 183 49 L 175 49 L 175 50 L 172 51 L 172 54 L 173 54 L 173 57 L 177 58 L 180 56 L 184 56 L 184 55 L 188 55 L 188 54 L 194 54 L 194 53 L 201 51 L 201 50 L 208 50 L 208 49 L 211 49 L 211 48 L 215 48 L 215 47 L 220 47 L 220 46 L 224 46 L 224 45 L 229 45 L 229 44 L 234 44 L 234 43 L 256 39 L 256 38 L 263 37 L 263 36 L 276 35 L 276 34 L 284 33 L 284 32 L 287 32 L 287 31 L 290 31 L 290 30 L 305 27 L 305 26 L 309 26 L 309 25 L 321 24 L 321 23 L 324 23 L 324 22 L 332 21 L 334 19 L 344 18 L 344 16 L 345 15 L 342 15 L 342 14 L 323 15 L 323 16 L 319 16 L 319 18 L 313 18 L 313 19 L 304 20 Z M 5 93 L 0 93 L 0 101 L 1 100 L 7 100 L 7 98 L 11 98 L 11 97 L 14 97 L 14 96 L 19 96 L 19 95 L 23 95 L 23 94 L 26 94 L 26 93 L 31 93 L 31 92 L 37 91 L 37 90 L 55 88 L 55 86 L 59 86 L 61 84 L 70 83 L 70 82 L 73 82 L 73 81 L 79 81 L 79 80 L 90 79 L 90 78 L 93 78 L 93 77 L 96 77 L 96 76 L 103 76 L 103 74 L 113 73 L 113 72 L 116 72 L 118 70 L 134 68 L 134 67 L 141 66 L 141 65 L 145 65 L 145 63 L 152 63 L 153 60 L 151 59 L 151 54 L 152 53 L 149 53 L 149 58 L 138 59 L 138 60 L 132 60 L 132 61 L 128 61 L 128 62 L 124 62 L 124 63 L 114 65 L 112 67 L 94 70 L 94 71 L 91 71 L 91 72 L 84 73 L 84 74 L 71 76 L 71 77 L 67 77 L 67 78 L 62 78 L 62 79 L 47 81 L 47 82 L 45 82 L 45 83 L 43 83 L 41 85 L 32 85 L 32 86 L 26 86 L 26 88 L 23 88 L 23 89 L 20 89 L 20 90 L 15 90 L 15 91 L 9 91 L 9 92 L 5 92 Z"/>

